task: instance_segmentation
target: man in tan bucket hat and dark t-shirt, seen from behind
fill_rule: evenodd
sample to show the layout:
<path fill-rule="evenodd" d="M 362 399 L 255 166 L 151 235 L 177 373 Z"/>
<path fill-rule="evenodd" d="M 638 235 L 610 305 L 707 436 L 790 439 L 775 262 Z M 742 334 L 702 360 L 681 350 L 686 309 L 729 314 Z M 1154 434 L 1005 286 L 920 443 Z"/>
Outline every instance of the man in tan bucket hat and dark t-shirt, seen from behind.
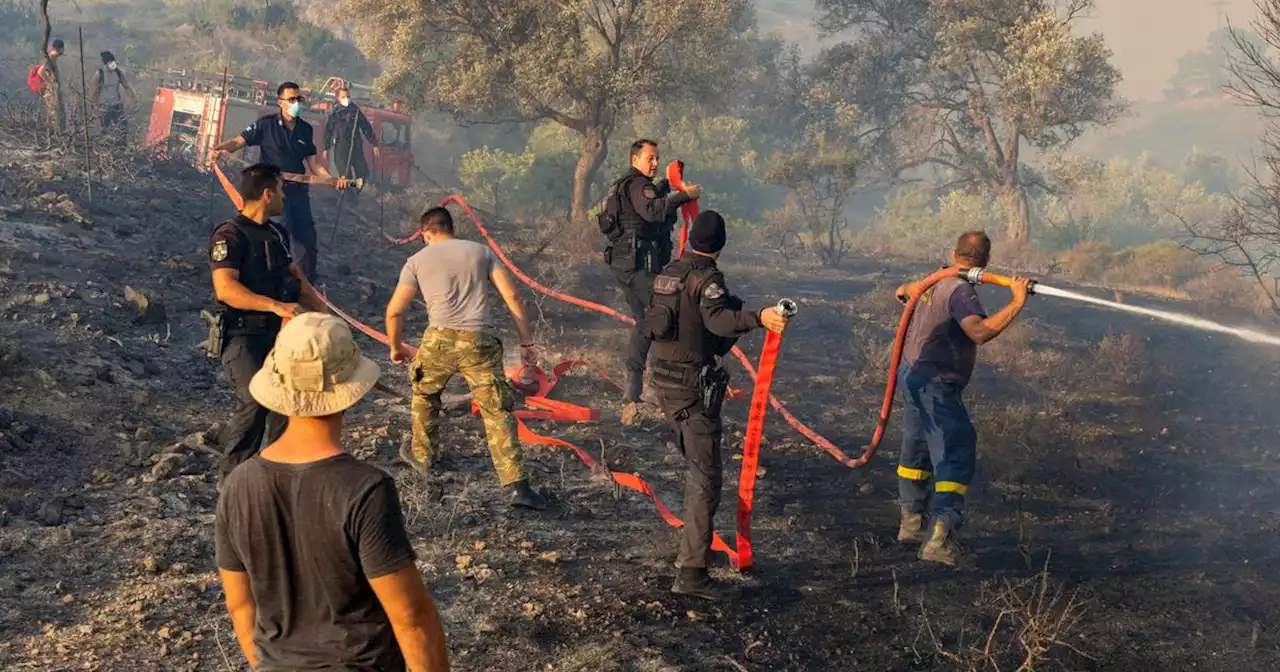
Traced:
<path fill-rule="evenodd" d="M 289 419 L 218 500 L 218 572 L 253 669 L 449 669 L 396 481 L 339 443 L 343 412 L 378 375 L 346 324 L 306 312 L 250 383 Z"/>

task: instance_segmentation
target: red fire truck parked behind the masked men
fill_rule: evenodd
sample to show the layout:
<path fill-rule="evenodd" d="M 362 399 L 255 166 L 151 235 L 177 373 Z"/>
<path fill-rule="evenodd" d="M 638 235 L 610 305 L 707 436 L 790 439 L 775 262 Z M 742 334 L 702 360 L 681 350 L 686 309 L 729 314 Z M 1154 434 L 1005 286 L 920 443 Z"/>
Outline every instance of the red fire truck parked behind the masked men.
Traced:
<path fill-rule="evenodd" d="M 329 110 L 337 104 L 334 92 L 343 79 L 330 77 L 319 95 L 303 90 L 308 108 L 302 111 L 315 131 L 320 147 Z M 381 146 L 381 156 L 374 157 L 372 147 L 365 142 L 365 161 L 369 182 L 381 188 L 401 191 L 410 183 L 412 146 L 410 127 L 412 119 L 398 104 L 383 106 L 374 100 L 372 87 L 348 82 L 351 100 L 369 118 Z M 225 91 L 225 97 L 223 96 Z M 175 156 L 205 170 L 204 157 L 210 147 L 228 140 L 253 123 L 259 116 L 278 111 L 275 84 L 247 77 L 223 76 L 187 70 L 164 73 L 151 104 L 151 122 L 147 128 L 147 146 L 157 156 Z M 323 150 L 323 147 L 321 147 Z M 256 147 L 242 150 L 248 161 L 257 159 Z M 333 166 L 329 166 L 333 170 Z"/>

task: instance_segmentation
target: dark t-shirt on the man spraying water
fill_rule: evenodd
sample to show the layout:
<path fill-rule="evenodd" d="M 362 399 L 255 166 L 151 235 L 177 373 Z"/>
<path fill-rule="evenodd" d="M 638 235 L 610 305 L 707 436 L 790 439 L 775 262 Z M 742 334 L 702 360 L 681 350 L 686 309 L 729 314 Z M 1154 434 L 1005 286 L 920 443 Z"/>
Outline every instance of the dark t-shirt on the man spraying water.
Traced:
<path fill-rule="evenodd" d="M 960 321 L 970 315 L 987 316 L 977 289 L 960 278 L 940 280 L 915 306 L 902 361 L 922 374 L 968 385 L 978 346 L 960 328 Z"/>

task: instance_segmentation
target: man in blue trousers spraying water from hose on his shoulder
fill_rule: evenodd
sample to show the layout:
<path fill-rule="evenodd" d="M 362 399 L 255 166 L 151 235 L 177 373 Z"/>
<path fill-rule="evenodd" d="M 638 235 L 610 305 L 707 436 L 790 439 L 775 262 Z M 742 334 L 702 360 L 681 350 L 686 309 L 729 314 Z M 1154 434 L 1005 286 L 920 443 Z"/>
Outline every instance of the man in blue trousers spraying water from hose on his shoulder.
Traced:
<path fill-rule="evenodd" d="M 986 266 L 991 239 L 968 232 L 951 261 L 960 269 Z M 963 278 L 945 278 L 920 296 L 902 343 L 902 452 L 897 484 L 901 506 L 899 541 L 923 541 L 920 559 L 956 566 L 972 559 L 956 531 L 964 524 L 964 498 L 978 461 L 978 433 L 961 393 L 973 375 L 978 346 L 996 338 L 1027 305 L 1028 279 L 1014 278 L 1014 300 L 987 316 L 978 292 Z M 911 284 L 897 288 L 906 301 Z M 931 502 L 932 500 L 932 502 Z M 925 526 L 932 508 L 933 522 Z"/>

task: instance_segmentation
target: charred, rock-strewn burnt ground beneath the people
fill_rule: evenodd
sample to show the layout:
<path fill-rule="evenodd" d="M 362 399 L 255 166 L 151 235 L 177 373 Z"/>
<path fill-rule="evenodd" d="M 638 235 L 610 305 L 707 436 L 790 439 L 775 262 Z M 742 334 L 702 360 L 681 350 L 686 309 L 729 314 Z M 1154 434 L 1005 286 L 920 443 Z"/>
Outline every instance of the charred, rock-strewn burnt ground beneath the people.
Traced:
<path fill-rule="evenodd" d="M 207 175 L 159 165 L 96 186 L 88 209 L 76 175 L 60 157 L 0 157 L 0 668 L 243 669 L 212 566 L 202 438 L 230 392 L 197 346 L 206 237 L 229 206 Z M 330 296 L 381 326 L 410 250 L 380 242 L 369 205 L 328 244 L 333 196 L 314 198 Z M 383 221 L 403 221 L 393 210 Z M 535 255 L 534 232 L 498 234 L 547 284 L 621 306 L 603 269 Z M 854 259 L 831 271 L 736 247 L 723 265 L 746 297 L 800 300 L 774 393 L 856 452 L 897 319 L 888 289 L 925 266 Z M 525 297 L 547 360 L 620 371 L 620 324 Z M 384 381 L 407 389 L 385 349 L 362 342 Z M 754 356 L 760 342 L 741 344 Z M 1280 668 L 1277 353 L 1033 298 L 980 360 L 966 527 L 980 561 L 965 571 L 922 566 L 893 540 L 896 424 L 876 462 L 850 472 L 771 412 L 756 566 L 714 570 L 737 593 L 722 604 L 671 595 L 676 531 L 564 451 L 527 448 L 553 499 L 536 515 L 507 508 L 465 413 L 449 416 L 429 479 L 393 462 L 403 401 L 358 404 L 348 447 L 397 475 L 456 669 Z M 616 392 L 590 372 L 554 397 L 599 406 L 602 420 L 536 431 L 643 474 L 678 511 L 681 462 L 659 422 L 623 429 Z M 745 410 L 727 407 L 728 456 Z M 718 525 L 731 536 L 730 460 Z"/>

